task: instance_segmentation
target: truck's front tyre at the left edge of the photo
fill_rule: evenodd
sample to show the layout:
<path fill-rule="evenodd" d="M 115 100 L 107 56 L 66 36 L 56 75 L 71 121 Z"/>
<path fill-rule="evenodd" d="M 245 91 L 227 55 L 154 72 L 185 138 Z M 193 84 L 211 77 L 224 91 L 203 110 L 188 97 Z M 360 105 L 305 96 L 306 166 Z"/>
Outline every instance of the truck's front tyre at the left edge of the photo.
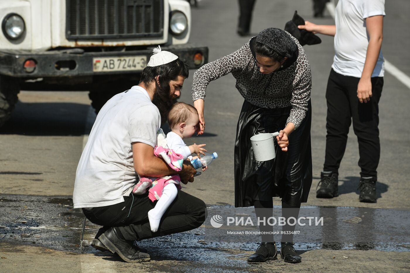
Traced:
<path fill-rule="evenodd" d="M 18 92 L 20 92 L 18 80 L 0 76 L 0 127 L 11 117 L 11 112 L 18 100 Z"/>

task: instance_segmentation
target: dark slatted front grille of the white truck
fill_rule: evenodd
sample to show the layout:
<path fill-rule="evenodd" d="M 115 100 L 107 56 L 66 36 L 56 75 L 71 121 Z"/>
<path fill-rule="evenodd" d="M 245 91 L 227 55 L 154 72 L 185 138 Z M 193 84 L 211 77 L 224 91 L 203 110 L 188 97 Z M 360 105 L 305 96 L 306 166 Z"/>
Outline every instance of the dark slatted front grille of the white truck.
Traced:
<path fill-rule="evenodd" d="M 159 37 L 164 0 L 66 0 L 68 40 Z"/>

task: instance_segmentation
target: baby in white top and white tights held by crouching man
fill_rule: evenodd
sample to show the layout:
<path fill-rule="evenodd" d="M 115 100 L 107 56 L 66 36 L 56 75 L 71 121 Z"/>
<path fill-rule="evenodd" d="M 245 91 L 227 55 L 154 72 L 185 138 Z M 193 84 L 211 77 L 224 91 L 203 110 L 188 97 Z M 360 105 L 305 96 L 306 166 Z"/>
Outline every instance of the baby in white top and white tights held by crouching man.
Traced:
<path fill-rule="evenodd" d="M 182 169 L 182 161 L 191 160 L 191 154 L 205 155 L 205 144 L 193 144 L 186 146 L 182 139 L 191 137 L 197 129 L 199 121 L 198 111 L 192 105 L 184 102 L 177 102 L 168 114 L 168 124 L 171 132 L 166 135 L 161 129 L 158 131 L 158 144 L 154 149 L 157 157 L 162 157 L 169 166 L 176 171 Z M 149 189 L 148 189 L 149 188 Z M 179 175 L 164 177 L 140 177 L 140 180 L 133 189 L 135 194 L 146 193 L 148 189 L 148 198 L 151 201 L 158 200 L 153 209 L 148 212 L 148 220 L 152 232 L 156 232 L 159 222 L 166 209 L 171 205 L 181 189 Z"/>

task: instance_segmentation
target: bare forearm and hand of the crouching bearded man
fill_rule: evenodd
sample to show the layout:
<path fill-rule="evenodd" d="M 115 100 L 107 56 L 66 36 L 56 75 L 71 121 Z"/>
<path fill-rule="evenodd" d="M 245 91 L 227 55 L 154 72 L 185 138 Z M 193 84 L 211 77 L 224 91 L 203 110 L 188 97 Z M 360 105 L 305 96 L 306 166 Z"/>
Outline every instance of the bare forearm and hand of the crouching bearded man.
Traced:
<path fill-rule="evenodd" d="M 139 175 L 161 177 L 164 175 L 180 175 L 181 182 L 194 181 L 195 168 L 189 161 L 184 161 L 182 171 L 174 171 L 164 160 L 154 155 L 154 148 L 141 142 L 133 142 L 132 158 L 134 160 L 134 169 Z"/>

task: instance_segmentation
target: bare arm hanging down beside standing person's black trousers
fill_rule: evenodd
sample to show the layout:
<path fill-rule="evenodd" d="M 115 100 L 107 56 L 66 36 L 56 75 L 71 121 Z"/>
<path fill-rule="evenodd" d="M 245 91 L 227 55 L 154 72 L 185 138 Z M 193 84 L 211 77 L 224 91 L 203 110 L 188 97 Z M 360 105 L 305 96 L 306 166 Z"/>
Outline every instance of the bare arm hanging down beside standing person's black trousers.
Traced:
<path fill-rule="evenodd" d="M 358 98 L 360 103 L 370 101 L 371 74 L 376 66 L 383 40 L 383 15 L 366 18 L 366 30 L 369 34 L 369 45 L 367 46 L 366 60 L 362 71 L 362 77 L 358 84 Z"/>

